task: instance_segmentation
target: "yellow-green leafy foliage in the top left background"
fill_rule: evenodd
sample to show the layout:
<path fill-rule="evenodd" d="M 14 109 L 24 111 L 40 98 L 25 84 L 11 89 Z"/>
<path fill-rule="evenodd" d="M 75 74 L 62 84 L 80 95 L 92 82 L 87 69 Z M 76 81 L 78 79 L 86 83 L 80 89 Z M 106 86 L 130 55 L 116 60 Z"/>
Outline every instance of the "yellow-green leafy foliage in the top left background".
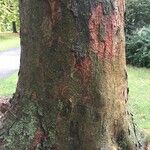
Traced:
<path fill-rule="evenodd" d="M 12 31 L 12 21 L 19 28 L 18 0 L 0 0 L 0 31 Z"/>

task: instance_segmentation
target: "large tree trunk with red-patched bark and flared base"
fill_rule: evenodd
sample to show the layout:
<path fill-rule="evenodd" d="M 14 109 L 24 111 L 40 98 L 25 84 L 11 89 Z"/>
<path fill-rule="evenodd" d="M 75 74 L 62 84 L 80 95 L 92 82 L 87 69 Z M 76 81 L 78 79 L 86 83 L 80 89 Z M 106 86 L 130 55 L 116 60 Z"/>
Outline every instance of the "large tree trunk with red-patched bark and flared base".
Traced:
<path fill-rule="evenodd" d="M 126 108 L 124 7 L 20 0 L 21 66 L 1 106 L 1 149 L 143 149 Z"/>

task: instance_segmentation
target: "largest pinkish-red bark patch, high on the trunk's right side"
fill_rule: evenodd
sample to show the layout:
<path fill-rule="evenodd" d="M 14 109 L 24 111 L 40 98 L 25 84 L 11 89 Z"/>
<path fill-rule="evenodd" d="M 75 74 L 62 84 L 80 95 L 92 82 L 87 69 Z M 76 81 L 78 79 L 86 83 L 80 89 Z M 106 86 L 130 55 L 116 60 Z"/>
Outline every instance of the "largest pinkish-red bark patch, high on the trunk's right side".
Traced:
<path fill-rule="evenodd" d="M 92 51 L 97 54 L 98 58 L 110 59 L 114 55 L 114 35 L 117 31 L 118 18 L 116 12 L 106 16 L 103 14 L 102 5 L 99 4 L 92 10 L 89 20 L 90 45 Z M 100 25 L 104 26 L 105 39 L 100 40 Z"/>

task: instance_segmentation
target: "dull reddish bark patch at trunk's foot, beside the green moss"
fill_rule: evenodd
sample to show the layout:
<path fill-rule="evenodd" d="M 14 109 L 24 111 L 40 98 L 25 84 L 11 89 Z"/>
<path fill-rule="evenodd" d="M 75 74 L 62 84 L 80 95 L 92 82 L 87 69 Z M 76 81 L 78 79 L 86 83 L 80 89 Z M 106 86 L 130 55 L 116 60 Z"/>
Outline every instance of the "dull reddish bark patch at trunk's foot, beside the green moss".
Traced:
<path fill-rule="evenodd" d="M 45 137 L 46 136 L 45 136 L 43 130 L 40 127 L 38 127 L 36 132 L 35 132 L 35 135 L 34 135 L 34 138 L 33 138 L 33 142 L 32 142 L 32 144 L 30 146 L 30 149 L 34 150 L 36 148 L 36 146 L 38 144 L 40 144 Z"/>

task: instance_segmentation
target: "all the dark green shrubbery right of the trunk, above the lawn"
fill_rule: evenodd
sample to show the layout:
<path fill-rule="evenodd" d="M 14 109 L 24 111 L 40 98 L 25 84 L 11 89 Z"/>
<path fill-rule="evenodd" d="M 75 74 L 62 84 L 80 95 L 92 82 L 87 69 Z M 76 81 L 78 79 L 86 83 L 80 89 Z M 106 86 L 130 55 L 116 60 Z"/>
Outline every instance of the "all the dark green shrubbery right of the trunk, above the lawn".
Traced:
<path fill-rule="evenodd" d="M 127 63 L 150 67 L 150 0 L 126 0 Z"/>

